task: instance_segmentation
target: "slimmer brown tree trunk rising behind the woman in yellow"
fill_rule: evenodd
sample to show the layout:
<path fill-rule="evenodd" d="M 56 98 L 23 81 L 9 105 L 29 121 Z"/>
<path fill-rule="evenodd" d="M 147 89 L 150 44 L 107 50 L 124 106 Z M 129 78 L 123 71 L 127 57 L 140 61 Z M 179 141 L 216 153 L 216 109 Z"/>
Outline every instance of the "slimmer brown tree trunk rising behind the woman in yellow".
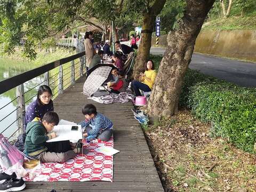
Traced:
<path fill-rule="evenodd" d="M 149 11 L 143 15 L 141 41 L 132 74 L 134 79 L 138 78 L 140 72 L 144 72 L 144 64 L 149 59 L 151 36 L 155 26 L 156 15 L 162 11 L 165 2 L 166 0 L 155 0 L 154 4 L 149 7 Z"/>

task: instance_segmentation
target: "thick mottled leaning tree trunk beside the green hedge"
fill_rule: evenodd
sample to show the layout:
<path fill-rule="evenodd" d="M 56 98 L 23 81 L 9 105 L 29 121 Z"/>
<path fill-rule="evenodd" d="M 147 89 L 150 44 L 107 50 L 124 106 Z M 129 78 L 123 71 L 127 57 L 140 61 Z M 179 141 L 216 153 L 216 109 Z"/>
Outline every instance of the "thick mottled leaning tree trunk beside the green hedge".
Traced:
<path fill-rule="evenodd" d="M 196 37 L 215 0 L 187 0 L 179 28 L 167 37 L 167 47 L 150 95 L 147 112 L 151 116 L 173 115 L 178 111 L 183 77 L 194 51 Z"/>

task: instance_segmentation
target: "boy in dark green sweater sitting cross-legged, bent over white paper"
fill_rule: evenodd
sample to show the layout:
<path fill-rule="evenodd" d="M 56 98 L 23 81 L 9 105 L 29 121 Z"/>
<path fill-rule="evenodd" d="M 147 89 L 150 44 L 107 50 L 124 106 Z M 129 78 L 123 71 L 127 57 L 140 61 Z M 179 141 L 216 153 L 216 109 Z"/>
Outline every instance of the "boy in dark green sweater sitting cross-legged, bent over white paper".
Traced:
<path fill-rule="evenodd" d="M 50 149 L 46 147 L 46 141 L 56 137 L 55 132 L 51 131 L 54 125 L 58 125 L 58 123 L 59 116 L 53 111 L 45 113 L 42 120 L 36 117 L 32 122 L 29 122 L 26 127 L 25 154 L 42 163 L 47 163 L 65 162 L 75 157 L 76 153 L 81 153 L 82 148 L 75 148 L 63 153 L 49 151 Z"/>

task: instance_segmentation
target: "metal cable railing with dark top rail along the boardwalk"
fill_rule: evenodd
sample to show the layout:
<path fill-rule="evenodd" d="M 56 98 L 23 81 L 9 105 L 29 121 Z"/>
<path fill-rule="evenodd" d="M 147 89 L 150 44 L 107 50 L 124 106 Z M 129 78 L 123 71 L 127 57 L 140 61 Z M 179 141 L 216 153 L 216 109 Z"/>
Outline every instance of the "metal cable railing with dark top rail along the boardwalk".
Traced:
<path fill-rule="evenodd" d="M 23 119 L 25 118 L 26 105 L 37 97 L 35 93 L 37 93 L 37 89 L 40 85 L 45 84 L 50 86 L 54 99 L 58 94 L 63 93 L 67 87 L 73 85 L 78 78 L 82 77 L 86 73 L 84 69 L 85 52 L 83 51 L 1 81 L 0 94 L 16 87 L 16 97 L 10 102 L 4 103 L 0 108 L 0 113 L 6 113 L 6 115 L 0 119 L 0 123 L 14 113 L 16 113 L 16 117 L 13 121 L 8 122 L 6 127 L 1 127 L 1 134 L 4 134 L 11 126 L 13 127 L 14 123 L 17 125 L 16 129 L 12 130 L 13 132 L 8 139 L 16 137 L 17 134 L 23 132 Z M 35 78 L 37 80 L 39 79 L 39 82 L 37 81 L 36 84 L 33 82 Z M 14 109 L 6 112 L 10 105 L 13 105 Z"/>

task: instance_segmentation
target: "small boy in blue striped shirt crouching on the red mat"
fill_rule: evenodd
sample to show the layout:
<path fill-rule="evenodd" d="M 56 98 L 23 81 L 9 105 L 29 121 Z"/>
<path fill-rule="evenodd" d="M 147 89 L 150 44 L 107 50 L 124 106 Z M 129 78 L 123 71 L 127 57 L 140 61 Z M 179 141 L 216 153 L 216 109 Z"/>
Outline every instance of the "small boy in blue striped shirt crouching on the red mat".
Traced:
<path fill-rule="evenodd" d="M 83 135 L 86 140 L 91 141 L 98 138 L 101 141 L 108 141 L 113 133 L 113 123 L 106 116 L 97 112 L 96 107 L 92 104 L 85 105 L 82 113 L 85 120 L 78 125 L 85 127 Z"/>

